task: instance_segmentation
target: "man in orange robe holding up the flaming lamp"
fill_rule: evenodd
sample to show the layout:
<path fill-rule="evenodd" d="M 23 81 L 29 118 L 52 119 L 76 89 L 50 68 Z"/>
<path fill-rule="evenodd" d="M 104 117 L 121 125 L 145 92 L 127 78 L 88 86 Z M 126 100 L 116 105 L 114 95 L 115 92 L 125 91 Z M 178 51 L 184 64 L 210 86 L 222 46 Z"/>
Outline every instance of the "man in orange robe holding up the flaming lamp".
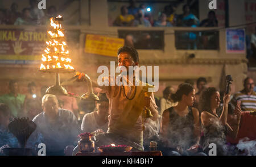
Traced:
<path fill-rule="evenodd" d="M 92 82 L 93 86 L 100 87 L 102 92 L 107 94 L 109 98 L 109 124 L 108 131 L 102 141 L 109 145 L 110 142 L 114 144 L 130 145 L 134 150 L 143 151 L 143 118 L 142 111 L 147 106 L 153 115 L 152 120 L 158 119 L 157 106 L 154 100 L 154 94 L 151 97 L 145 97 L 144 92 L 151 85 L 142 86 L 142 81 L 139 81 L 136 77 L 130 80 L 128 72 L 129 66 L 139 65 L 138 52 L 131 47 L 121 47 L 118 52 L 118 66 L 124 66 L 126 69 L 121 70 L 119 76 L 107 77 L 109 86 L 99 86 L 97 82 Z M 78 73 L 78 81 L 84 80 L 84 74 Z M 110 86 L 111 81 L 127 83 L 127 86 Z M 135 82 L 139 82 L 139 86 L 135 86 Z M 132 86 L 128 86 L 131 83 Z M 106 137 L 107 136 L 107 137 Z M 109 139 L 109 140 L 107 140 Z M 100 145 L 103 145 L 101 143 Z M 104 145 L 105 145 L 104 144 Z"/>

